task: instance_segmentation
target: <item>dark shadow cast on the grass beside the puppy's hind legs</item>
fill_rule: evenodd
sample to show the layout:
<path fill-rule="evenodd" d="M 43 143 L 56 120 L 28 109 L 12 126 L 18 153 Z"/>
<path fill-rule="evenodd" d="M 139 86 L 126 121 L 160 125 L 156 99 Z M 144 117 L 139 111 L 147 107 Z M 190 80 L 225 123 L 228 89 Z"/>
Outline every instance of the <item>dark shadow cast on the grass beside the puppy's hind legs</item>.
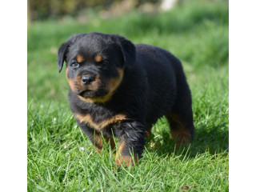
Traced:
<path fill-rule="evenodd" d="M 187 154 L 193 158 L 206 151 L 209 154 L 219 154 L 229 150 L 229 131 L 225 122 L 218 126 L 198 126 L 195 130 L 194 141 L 186 147 L 176 147 L 170 138 L 169 130 L 162 130 L 159 134 L 158 137 L 149 138 L 146 142 L 147 149 L 159 156 L 175 153 L 177 155 Z"/>

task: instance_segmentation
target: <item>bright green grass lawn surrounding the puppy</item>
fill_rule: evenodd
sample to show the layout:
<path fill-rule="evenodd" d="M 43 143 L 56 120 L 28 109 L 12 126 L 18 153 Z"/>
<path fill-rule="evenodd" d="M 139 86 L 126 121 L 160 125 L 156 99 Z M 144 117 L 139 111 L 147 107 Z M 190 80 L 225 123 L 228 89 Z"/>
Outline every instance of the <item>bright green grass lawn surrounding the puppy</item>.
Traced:
<path fill-rule="evenodd" d="M 190 2 L 162 14 L 133 12 L 108 20 L 94 15 L 86 24 L 34 22 L 27 55 L 28 190 L 228 191 L 228 29 L 227 2 Z M 161 118 L 132 170 L 117 167 L 108 150 L 94 150 L 70 112 L 65 73 L 58 74 L 56 63 L 66 38 L 91 31 L 161 46 L 181 59 L 193 95 L 192 146 L 175 149 Z"/>

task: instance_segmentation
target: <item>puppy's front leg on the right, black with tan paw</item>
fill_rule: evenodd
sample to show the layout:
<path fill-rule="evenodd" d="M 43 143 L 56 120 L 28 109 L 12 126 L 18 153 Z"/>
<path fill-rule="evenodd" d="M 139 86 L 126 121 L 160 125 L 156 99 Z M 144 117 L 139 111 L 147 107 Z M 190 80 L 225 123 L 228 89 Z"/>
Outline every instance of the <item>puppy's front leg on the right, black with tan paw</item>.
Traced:
<path fill-rule="evenodd" d="M 119 146 L 116 155 L 116 163 L 126 166 L 134 166 L 142 157 L 145 145 L 145 126 L 140 122 L 122 122 L 118 133 Z"/>

